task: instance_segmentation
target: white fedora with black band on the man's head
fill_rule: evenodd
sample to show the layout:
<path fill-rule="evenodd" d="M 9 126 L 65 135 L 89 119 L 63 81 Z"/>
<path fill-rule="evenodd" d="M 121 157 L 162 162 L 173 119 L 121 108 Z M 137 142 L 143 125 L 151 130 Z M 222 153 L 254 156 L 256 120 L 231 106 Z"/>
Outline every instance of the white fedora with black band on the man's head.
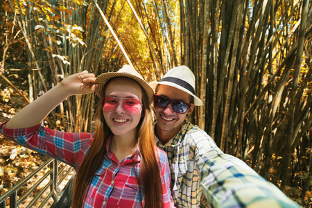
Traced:
<path fill-rule="evenodd" d="M 175 67 L 168 71 L 159 82 L 149 83 L 155 91 L 157 85 L 168 85 L 180 89 L 194 98 L 195 105 L 202 105 L 202 101 L 195 95 L 195 76 L 187 66 Z"/>

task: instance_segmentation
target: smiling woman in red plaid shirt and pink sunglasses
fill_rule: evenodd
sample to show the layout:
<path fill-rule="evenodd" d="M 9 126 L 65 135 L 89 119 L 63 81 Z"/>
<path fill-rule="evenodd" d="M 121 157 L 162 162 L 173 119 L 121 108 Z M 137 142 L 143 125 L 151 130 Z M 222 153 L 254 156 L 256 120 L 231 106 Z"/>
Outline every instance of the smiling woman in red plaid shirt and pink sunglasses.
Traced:
<path fill-rule="evenodd" d="M 68 96 L 90 92 L 101 98 L 94 134 L 38 125 Z M 83 71 L 24 107 L 0 132 L 78 171 L 72 207 L 173 207 L 168 159 L 154 141 L 152 101 L 153 89 L 129 65 L 98 78 Z"/>

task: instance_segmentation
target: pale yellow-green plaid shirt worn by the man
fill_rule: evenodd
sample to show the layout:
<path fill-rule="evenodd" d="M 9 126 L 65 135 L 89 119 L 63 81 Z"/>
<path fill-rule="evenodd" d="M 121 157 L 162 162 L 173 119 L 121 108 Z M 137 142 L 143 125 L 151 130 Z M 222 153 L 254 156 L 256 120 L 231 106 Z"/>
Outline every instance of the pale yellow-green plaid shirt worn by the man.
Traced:
<path fill-rule="evenodd" d="M 177 207 L 200 207 L 202 192 L 211 207 L 300 207 L 241 159 L 223 153 L 204 130 L 187 120 L 167 144 L 155 139 L 168 155 Z"/>

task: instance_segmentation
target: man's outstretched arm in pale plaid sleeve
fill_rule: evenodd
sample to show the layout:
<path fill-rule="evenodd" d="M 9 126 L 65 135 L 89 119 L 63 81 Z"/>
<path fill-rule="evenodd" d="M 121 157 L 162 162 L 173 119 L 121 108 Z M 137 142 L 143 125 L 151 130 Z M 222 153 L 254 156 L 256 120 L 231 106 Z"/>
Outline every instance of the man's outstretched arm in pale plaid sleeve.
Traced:
<path fill-rule="evenodd" d="M 300 207 L 241 159 L 223 153 L 205 131 L 189 132 L 211 207 Z"/>

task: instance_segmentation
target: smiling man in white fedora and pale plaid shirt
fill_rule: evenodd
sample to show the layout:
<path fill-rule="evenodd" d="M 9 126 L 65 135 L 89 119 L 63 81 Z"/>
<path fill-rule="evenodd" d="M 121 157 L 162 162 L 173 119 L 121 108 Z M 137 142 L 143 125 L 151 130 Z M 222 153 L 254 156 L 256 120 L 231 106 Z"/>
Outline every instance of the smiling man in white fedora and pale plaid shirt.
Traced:
<path fill-rule="evenodd" d="M 240 159 L 223 153 L 186 116 L 196 105 L 195 76 L 186 66 L 168 71 L 155 90 L 155 139 L 168 155 L 171 193 L 177 207 L 300 207 Z"/>

